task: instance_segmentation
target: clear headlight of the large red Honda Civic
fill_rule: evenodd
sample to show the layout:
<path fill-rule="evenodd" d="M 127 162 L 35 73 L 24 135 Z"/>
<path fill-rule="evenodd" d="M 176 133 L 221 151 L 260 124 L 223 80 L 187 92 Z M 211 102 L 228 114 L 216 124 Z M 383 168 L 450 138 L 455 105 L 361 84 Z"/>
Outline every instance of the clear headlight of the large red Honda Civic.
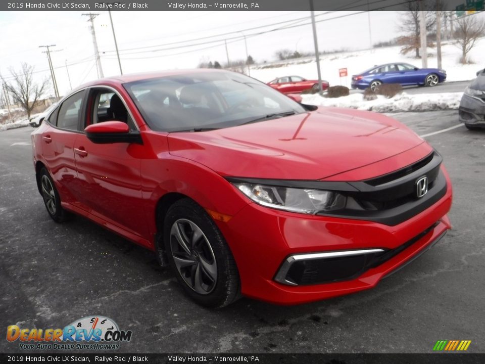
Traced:
<path fill-rule="evenodd" d="M 233 185 L 260 205 L 290 212 L 314 215 L 318 212 L 340 210 L 347 203 L 345 196 L 332 191 L 249 183 L 233 183 Z"/>

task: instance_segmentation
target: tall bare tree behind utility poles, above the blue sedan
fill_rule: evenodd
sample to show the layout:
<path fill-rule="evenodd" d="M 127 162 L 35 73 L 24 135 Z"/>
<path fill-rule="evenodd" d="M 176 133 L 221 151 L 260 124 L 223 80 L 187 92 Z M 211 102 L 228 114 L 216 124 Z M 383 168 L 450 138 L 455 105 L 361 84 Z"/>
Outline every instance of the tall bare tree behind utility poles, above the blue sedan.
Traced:
<path fill-rule="evenodd" d="M 406 3 L 406 12 L 401 19 L 401 25 L 399 30 L 404 32 L 405 35 L 397 39 L 397 43 L 402 45 L 401 53 L 408 54 L 409 52 L 415 52 L 415 57 L 419 58 L 419 48 L 421 47 L 421 32 L 419 26 L 419 2 Z M 429 32 L 434 29 L 436 25 L 436 0 L 424 0 L 423 4 L 426 31 Z M 433 47 L 431 41 L 426 41 L 427 47 Z"/>

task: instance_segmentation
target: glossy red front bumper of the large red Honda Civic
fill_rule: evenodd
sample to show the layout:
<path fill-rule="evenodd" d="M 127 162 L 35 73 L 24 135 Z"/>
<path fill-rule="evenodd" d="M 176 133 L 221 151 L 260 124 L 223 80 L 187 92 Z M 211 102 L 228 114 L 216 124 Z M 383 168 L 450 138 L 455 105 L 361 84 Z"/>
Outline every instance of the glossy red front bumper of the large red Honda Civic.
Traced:
<path fill-rule="evenodd" d="M 303 215 L 250 203 L 227 223 L 218 222 L 234 255 L 243 295 L 277 304 L 298 304 L 374 287 L 382 278 L 435 243 L 451 228 L 451 184 L 439 201 L 390 226 L 366 220 Z M 423 234 L 424 232 L 424 234 Z M 359 249 L 398 249 L 412 244 L 351 279 L 324 284 L 287 285 L 275 281 L 283 262 L 295 254 Z"/>

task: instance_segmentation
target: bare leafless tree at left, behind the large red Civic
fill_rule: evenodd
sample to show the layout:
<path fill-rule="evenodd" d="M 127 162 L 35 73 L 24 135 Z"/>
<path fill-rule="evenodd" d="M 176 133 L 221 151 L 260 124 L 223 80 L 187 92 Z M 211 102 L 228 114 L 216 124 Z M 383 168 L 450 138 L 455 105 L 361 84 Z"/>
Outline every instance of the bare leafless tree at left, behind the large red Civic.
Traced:
<path fill-rule="evenodd" d="M 27 117 L 30 118 L 30 114 L 35 107 L 37 101 L 45 93 L 48 79 L 44 79 L 40 83 L 34 82 L 32 74 L 34 67 L 27 63 L 22 63 L 22 69 L 17 72 L 13 68 L 10 68 L 12 74 L 12 82 L 5 82 L 5 86 L 15 103 L 19 103 L 27 113 Z"/>

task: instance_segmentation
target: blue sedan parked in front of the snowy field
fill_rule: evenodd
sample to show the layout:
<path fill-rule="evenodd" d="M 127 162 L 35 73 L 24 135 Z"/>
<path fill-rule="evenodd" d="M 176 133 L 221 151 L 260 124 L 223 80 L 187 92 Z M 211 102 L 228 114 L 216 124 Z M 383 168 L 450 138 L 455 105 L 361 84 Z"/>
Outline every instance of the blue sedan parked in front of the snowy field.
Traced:
<path fill-rule="evenodd" d="M 446 80 L 446 71 L 438 68 L 418 68 L 407 63 L 374 66 L 352 76 L 352 88 L 375 89 L 381 83 L 400 83 L 402 86 L 435 86 Z"/>

